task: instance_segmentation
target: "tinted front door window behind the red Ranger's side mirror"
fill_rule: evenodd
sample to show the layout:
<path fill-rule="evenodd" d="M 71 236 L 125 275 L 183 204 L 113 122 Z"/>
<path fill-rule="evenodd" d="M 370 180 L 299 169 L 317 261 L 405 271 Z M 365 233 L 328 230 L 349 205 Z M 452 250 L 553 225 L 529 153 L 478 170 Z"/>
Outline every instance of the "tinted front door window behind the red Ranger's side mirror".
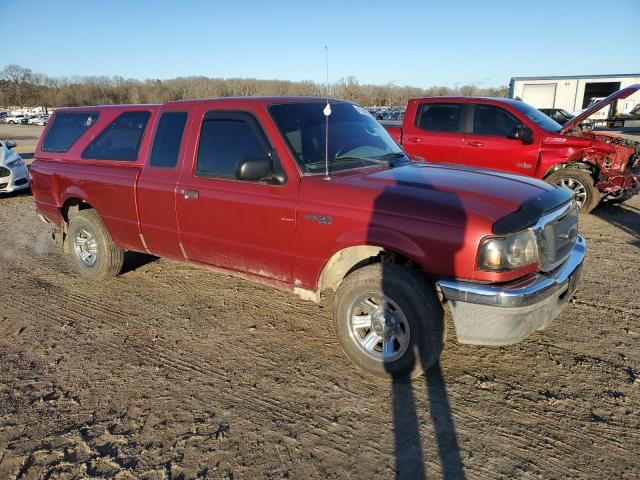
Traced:
<path fill-rule="evenodd" d="M 200 131 L 196 175 L 235 179 L 240 160 L 264 158 L 269 152 L 264 134 L 249 114 L 208 114 Z"/>

